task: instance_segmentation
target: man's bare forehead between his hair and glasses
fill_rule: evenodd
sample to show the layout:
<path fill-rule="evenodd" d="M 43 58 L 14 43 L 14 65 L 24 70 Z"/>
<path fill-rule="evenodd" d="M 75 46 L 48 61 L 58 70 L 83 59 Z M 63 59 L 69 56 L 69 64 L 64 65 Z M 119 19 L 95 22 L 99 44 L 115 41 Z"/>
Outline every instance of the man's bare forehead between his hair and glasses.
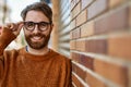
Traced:
<path fill-rule="evenodd" d="M 40 11 L 28 11 L 25 21 L 32 22 L 49 22 L 48 17 Z"/>

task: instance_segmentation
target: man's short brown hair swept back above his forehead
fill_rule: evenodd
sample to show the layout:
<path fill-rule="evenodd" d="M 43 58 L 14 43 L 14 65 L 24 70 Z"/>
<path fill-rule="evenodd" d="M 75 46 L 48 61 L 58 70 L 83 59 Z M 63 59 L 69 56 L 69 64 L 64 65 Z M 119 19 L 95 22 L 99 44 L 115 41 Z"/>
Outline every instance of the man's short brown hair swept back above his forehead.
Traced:
<path fill-rule="evenodd" d="M 52 11 L 51 8 L 45 3 L 45 2 L 35 2 L 31 5 L 27 5 L 22 12 L 21 12 L 21 16 L 23 20 L 25 20 L 26 14 L 28 11 L 40 11 L 43 12 L 50 21 L 50 23 L 52 23 Z"/>

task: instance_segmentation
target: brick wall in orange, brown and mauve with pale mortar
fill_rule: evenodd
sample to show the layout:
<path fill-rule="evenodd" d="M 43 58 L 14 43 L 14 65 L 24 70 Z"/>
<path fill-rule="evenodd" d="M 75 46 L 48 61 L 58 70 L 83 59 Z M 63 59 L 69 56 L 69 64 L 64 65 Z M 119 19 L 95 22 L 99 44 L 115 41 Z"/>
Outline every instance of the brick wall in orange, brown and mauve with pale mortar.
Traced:
<path fill-rule="evenodd" d="M 131 0 L 69 0 L 73 87 L 131 87 Z"/>

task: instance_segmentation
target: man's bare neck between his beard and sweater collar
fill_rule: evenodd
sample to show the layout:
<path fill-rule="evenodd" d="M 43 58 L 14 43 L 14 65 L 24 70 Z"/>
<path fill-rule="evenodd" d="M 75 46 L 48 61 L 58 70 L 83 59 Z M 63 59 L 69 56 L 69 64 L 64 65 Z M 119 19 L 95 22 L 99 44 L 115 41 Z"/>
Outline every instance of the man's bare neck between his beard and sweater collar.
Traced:
<path fill-rule="evenodd" d="M 32 54 L 44 55 L 44 54 L 47 54 L 49 52 L 49 48 L 44 47 L 44 48 L 37 50 L 37 49 L 33 49 L 33 48 L 27 46 L 27 51 Z"/>

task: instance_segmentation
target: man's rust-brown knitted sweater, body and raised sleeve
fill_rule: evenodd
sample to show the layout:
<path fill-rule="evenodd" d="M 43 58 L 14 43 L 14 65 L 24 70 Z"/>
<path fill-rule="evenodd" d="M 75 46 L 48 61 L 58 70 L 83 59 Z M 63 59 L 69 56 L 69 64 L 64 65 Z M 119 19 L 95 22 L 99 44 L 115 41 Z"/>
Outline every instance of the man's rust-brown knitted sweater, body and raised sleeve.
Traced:
<path fill-rule="evenodd" d="M 13 35 L 5 36 L 8 30 L 3 33 L 0 36 L 0 87 L 71 86 L 71 61 L 68 58 L 51 49 L 45 55 L 31 54 L 25 48 L 3 52 L 14 39 Z"/>

